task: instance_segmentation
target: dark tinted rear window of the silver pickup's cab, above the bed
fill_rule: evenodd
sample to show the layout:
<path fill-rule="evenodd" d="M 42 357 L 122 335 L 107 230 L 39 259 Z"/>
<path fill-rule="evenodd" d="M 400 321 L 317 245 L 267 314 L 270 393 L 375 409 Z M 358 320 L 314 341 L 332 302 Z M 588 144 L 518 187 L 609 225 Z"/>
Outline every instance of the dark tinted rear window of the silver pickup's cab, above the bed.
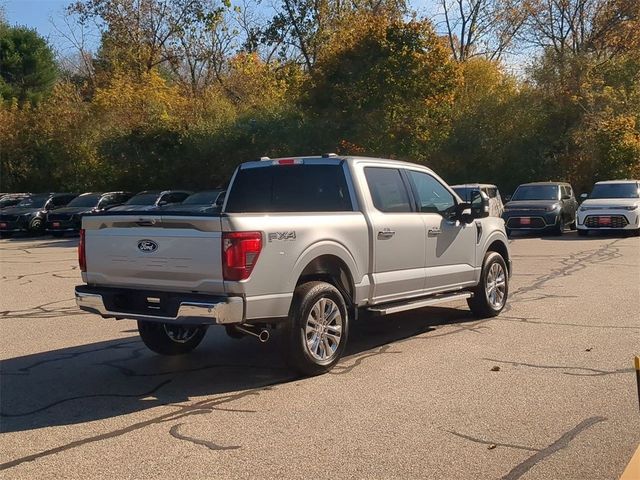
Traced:
<path fill-rule="evenodd" d="M 240 168 L 225 207 L 226 213 L 353 210 L 340 163 Z"/>

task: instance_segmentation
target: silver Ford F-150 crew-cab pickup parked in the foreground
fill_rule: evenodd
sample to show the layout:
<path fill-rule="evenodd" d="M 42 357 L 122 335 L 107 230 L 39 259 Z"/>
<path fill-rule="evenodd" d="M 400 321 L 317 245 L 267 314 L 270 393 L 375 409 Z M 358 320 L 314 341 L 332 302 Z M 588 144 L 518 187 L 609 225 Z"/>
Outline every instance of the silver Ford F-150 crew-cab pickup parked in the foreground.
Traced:
<path fill-rule="evenodd" d="M 498 315 L 511 260 L 485 196 L 465 203 L 428 168 L 364 157 L 241 164 L 219 212 L 85 216 L 76 287 L 85 311 L 138 321 L 144 343 L 174 355 L 210 325 L 261 341 L 283 328 L 290 365 L 332 368 L 349 327 L 466 299 Z"/>

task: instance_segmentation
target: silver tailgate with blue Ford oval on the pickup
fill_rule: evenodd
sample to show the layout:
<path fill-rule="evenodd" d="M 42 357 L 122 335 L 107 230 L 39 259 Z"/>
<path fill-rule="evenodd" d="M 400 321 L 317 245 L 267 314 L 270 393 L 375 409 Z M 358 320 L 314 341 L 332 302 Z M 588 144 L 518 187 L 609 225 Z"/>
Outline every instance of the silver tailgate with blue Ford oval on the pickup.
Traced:
<path fill-rule="evenodd" d="M 92 285 L 222 293 L 220 217 L 84 217 Z"/>

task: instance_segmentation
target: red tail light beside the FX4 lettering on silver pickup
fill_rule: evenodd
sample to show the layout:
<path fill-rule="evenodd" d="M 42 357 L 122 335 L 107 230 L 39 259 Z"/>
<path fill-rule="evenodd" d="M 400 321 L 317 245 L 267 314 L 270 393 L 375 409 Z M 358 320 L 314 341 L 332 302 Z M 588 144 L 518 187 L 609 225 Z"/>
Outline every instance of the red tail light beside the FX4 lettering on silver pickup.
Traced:
<path fill-rule="evenodd" d="M 262 250 L 260 232 L 225 232 L 222 234 L 222 276 L 225 280 L 246 280 Z"/>

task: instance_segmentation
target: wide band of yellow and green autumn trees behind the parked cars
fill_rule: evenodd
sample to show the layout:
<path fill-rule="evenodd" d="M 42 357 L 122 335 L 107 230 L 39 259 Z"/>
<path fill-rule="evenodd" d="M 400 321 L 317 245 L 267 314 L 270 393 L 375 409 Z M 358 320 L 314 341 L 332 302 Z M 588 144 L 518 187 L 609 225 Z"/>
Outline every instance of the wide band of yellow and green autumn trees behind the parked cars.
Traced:
<path fill-rule="evenodd" d="M 329 151 L 416 161 L 450 182 L 507 192 L 531 180 L 585 191 L 640 176 L 638 2 L 605 2 L 591 37 L 567 49 L 538 35 L 534 61 L 517 75 L 470 44 L 459 58 L 453 37 L 395 2 L 316 2 L 317 11 L 289 2 L 292 15 L 262 33 L 247 28 L 231 50 L 222 10 L 206 2 L 74 4 L 79 21 L 102 18 L 100 49 L 53 83 L 45 76 L 19 94 L 0 83 L 1 190 L 195 190 L 223 185 L 242 161 Z M 116 4 L 165 15 L 169 40 L 144 24 L 127 29 L 109 10 Z M 527 5 L 540 22 L 553 14 Z M 533 28 L 527 18 L 514 38 Z M 176 23 L 185 19 L 191 29 Z M 12 30 L 3 24 L 0 45 Z"/>

